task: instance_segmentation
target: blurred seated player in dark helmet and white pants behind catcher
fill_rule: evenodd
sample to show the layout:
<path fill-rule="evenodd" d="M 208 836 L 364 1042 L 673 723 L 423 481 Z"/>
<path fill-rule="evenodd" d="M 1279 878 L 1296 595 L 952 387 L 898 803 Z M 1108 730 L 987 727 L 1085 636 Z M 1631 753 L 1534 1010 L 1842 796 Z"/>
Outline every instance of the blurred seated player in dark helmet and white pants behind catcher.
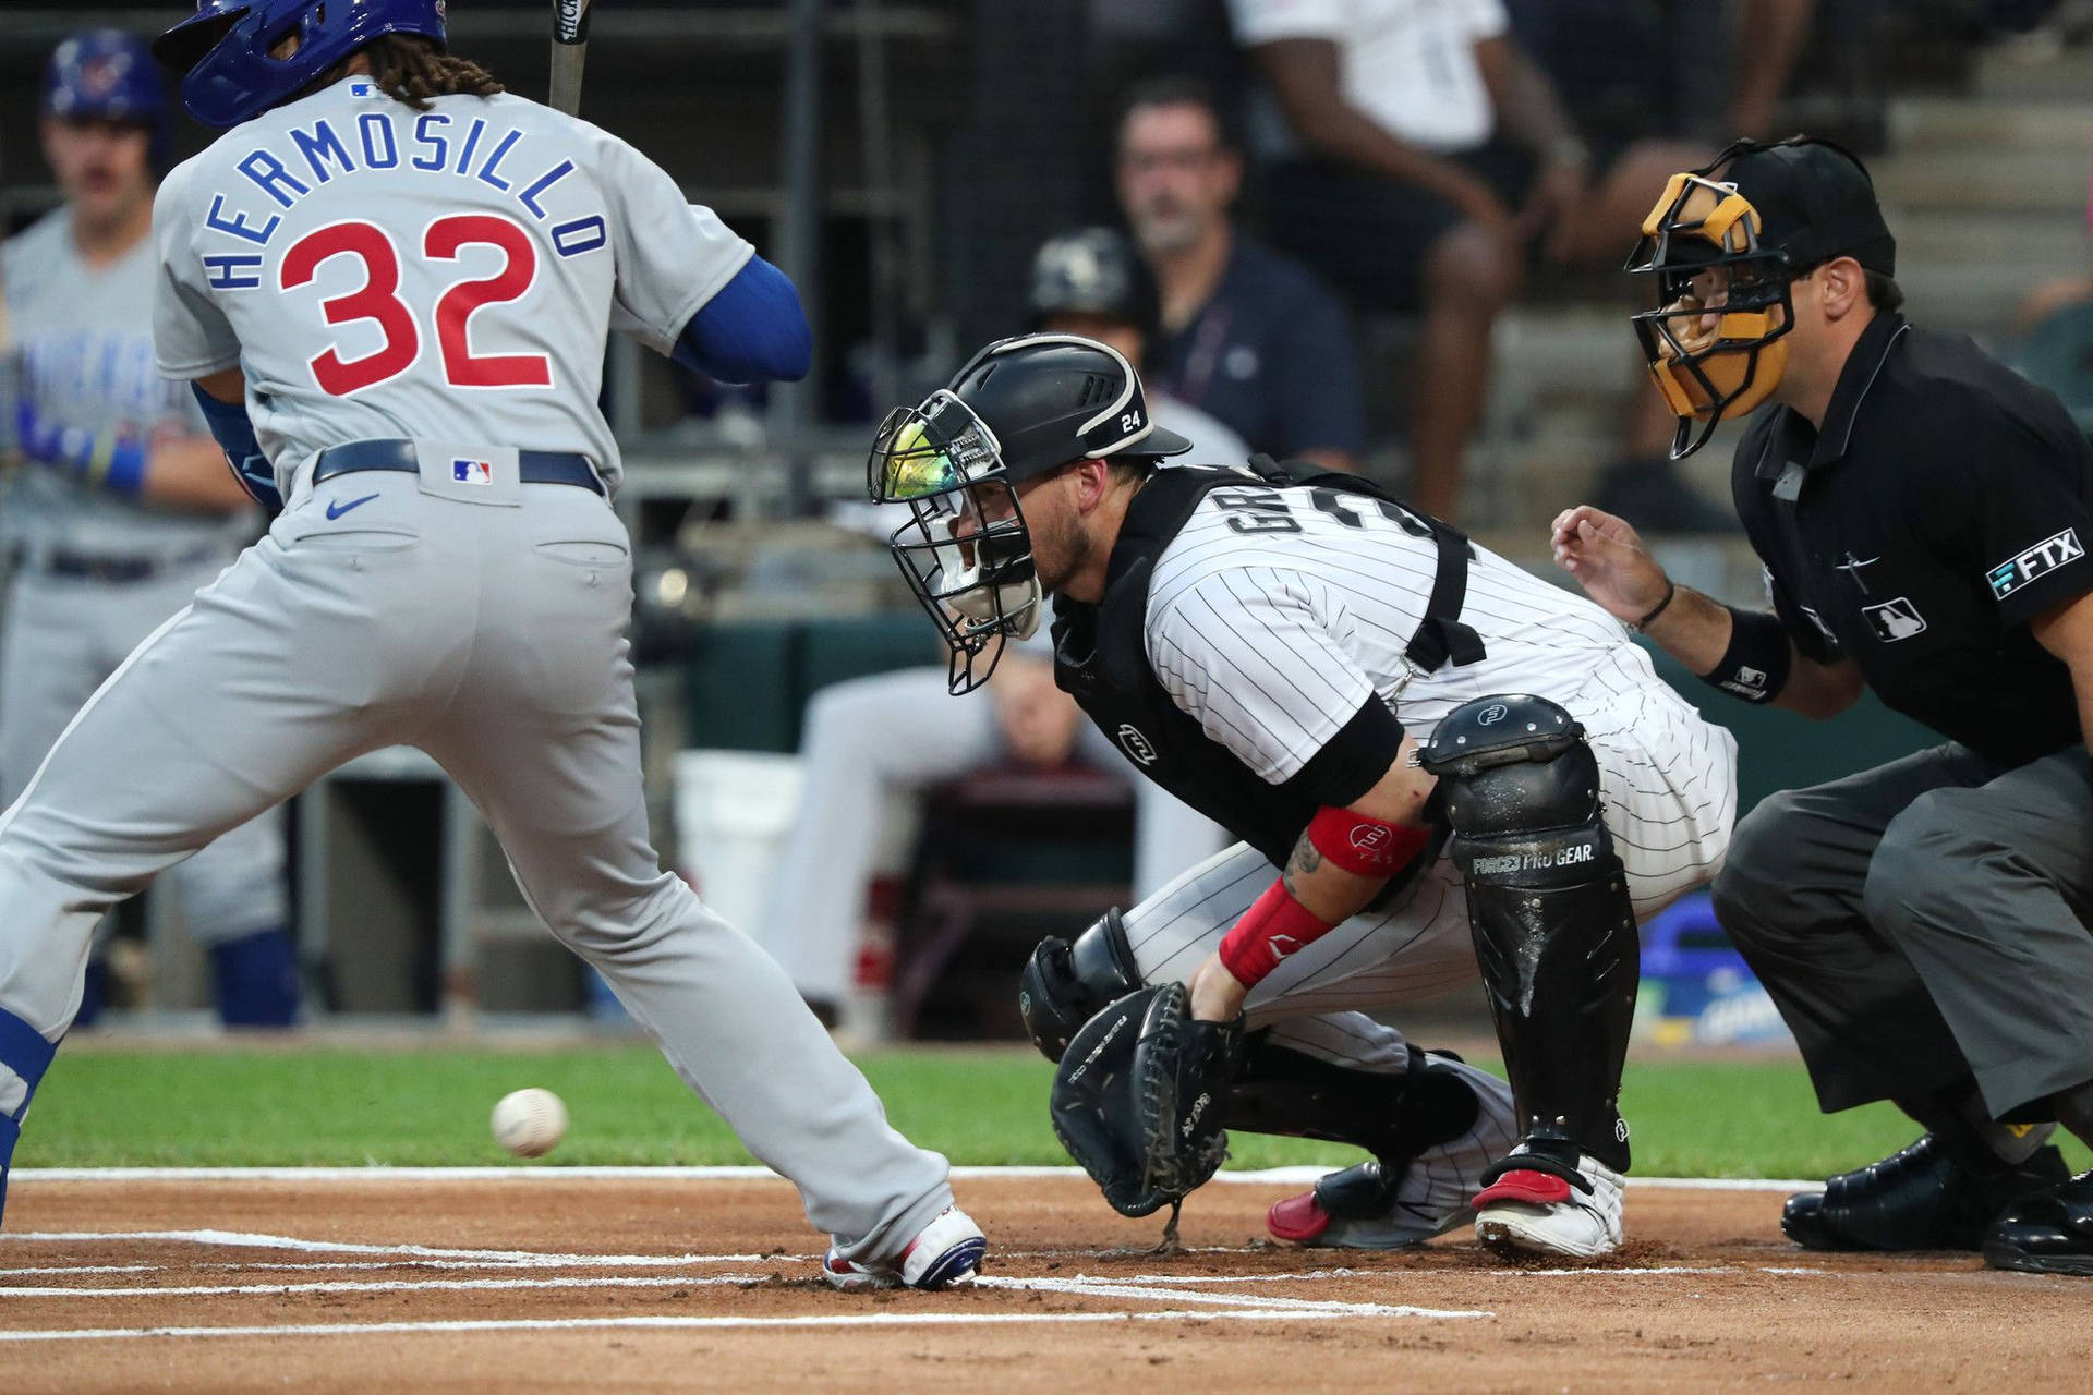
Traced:
<path fill-rule="evenodd" d="M 1155 324 L 1155 287 L 1132 245 L 1111 228 L 1049 238 L 1032 264 L 1032 328 L 1101 339 L 1139 362 Z M 1206 412 L 1149 397 L 1160 427 L 1193 443 L 1187 460 L 1241 464 L 1250 448 Z M 990 703 L 948 701 L 940 667 L 896 669 L 831 684 L 806 709 L 806 784 L 777 868 L 764 947 L 831 1025 L 852 987 L 867 891 L 890 791 L 921 793 L 973 770 L 1067 763 L 1128 776 L 1126 755 L 1055 686 L 1046 634 L 1013 644 L 988 684 Z M 938 740 L 896 740 L 936 730 Z M 1149 780 L 1134 788 L 1134 897 L 1229 843 L 1206 816 Z"/>

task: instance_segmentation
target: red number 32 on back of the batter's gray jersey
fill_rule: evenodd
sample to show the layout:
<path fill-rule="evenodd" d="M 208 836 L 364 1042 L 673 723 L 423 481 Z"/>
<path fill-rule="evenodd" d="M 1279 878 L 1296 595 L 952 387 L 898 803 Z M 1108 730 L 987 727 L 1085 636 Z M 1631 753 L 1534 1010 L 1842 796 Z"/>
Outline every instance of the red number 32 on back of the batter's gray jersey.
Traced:
<path fill-rule="evenodd" d="M 553 362 L 544 353 L 473 353 L 467 337 L 475 310 L 515 301 L 538 278 L 538 249 L 521 224 L 498 213 L 437 218 L 421 236 L 421 255 L 431 261 L 456 261 L 475 245 L 498 249 L 502 268 L 494 276 L 454 280 L 435 299 L 431 326 L 444 360 L 444 381 L 452 387 L 550 387 Z M 329 324 L 368 320 L 385 335 L 383 345 L 360 358 L 341 358 L 337 345 L 306 360 L 320 391 L 347 397 L 412 368 L 421 358 L 423 330 L 414 307 L 400 299 L 400 253 L 377 224 L 341 222 L 314 228 L 283 255 L 278 284 L 285 291 L 303 287 L 329 257 L 362 261 L 364 284 L 320 301 L 320 314 Z"/>

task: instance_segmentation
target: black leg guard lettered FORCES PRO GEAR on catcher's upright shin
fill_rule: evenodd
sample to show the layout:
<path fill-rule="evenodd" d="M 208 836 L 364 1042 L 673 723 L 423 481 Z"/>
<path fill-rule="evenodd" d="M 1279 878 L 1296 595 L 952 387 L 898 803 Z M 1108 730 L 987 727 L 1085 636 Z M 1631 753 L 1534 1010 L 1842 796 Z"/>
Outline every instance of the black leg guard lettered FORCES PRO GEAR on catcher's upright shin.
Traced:
<path fill-rule="evenodd" d="M 1589 1152 L 1626 1171 L 1620 1067 L 1641 954 L 1584 728 L 1547 699 L 1478 699 L 1440 719 L 1421 763 L 1446 797 L 1476 960 L 1532 1154 L 1574 1167 Z"/>

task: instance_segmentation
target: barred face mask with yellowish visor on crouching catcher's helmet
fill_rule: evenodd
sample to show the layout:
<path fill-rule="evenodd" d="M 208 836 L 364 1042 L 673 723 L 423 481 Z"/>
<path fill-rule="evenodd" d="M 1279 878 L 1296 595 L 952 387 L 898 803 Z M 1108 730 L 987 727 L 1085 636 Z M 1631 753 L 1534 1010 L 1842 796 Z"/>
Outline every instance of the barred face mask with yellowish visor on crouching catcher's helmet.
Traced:
<path fill-rule="evenodd" d="M 996 433 L 946 389 L 879 425 L 867 483 L 881 504 L 908 504 L 890 548 L 952 650 L 948 686 L 973 692 L 1007 638 L 1032 638 L 1044 594 L 1032 533 L 1003 466 Z"/>

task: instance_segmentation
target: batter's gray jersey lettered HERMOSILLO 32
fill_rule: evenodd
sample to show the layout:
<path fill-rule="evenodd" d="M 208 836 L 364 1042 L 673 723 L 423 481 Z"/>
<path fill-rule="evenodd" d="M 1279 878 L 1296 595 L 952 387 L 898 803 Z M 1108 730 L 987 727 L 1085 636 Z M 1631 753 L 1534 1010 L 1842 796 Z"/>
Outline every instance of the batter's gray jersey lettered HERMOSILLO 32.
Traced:
<path fill-rule="evenodd" d="M 586 121 L 507 94 L 414 111 L 362 77 L 174 169 L 153 224 L 159 370 L 243 368 L 285 491 L 316 450 L 427 420 L 582 452 L 615 487 L 607 330 L 668 353 L 753 253 Z"/>

